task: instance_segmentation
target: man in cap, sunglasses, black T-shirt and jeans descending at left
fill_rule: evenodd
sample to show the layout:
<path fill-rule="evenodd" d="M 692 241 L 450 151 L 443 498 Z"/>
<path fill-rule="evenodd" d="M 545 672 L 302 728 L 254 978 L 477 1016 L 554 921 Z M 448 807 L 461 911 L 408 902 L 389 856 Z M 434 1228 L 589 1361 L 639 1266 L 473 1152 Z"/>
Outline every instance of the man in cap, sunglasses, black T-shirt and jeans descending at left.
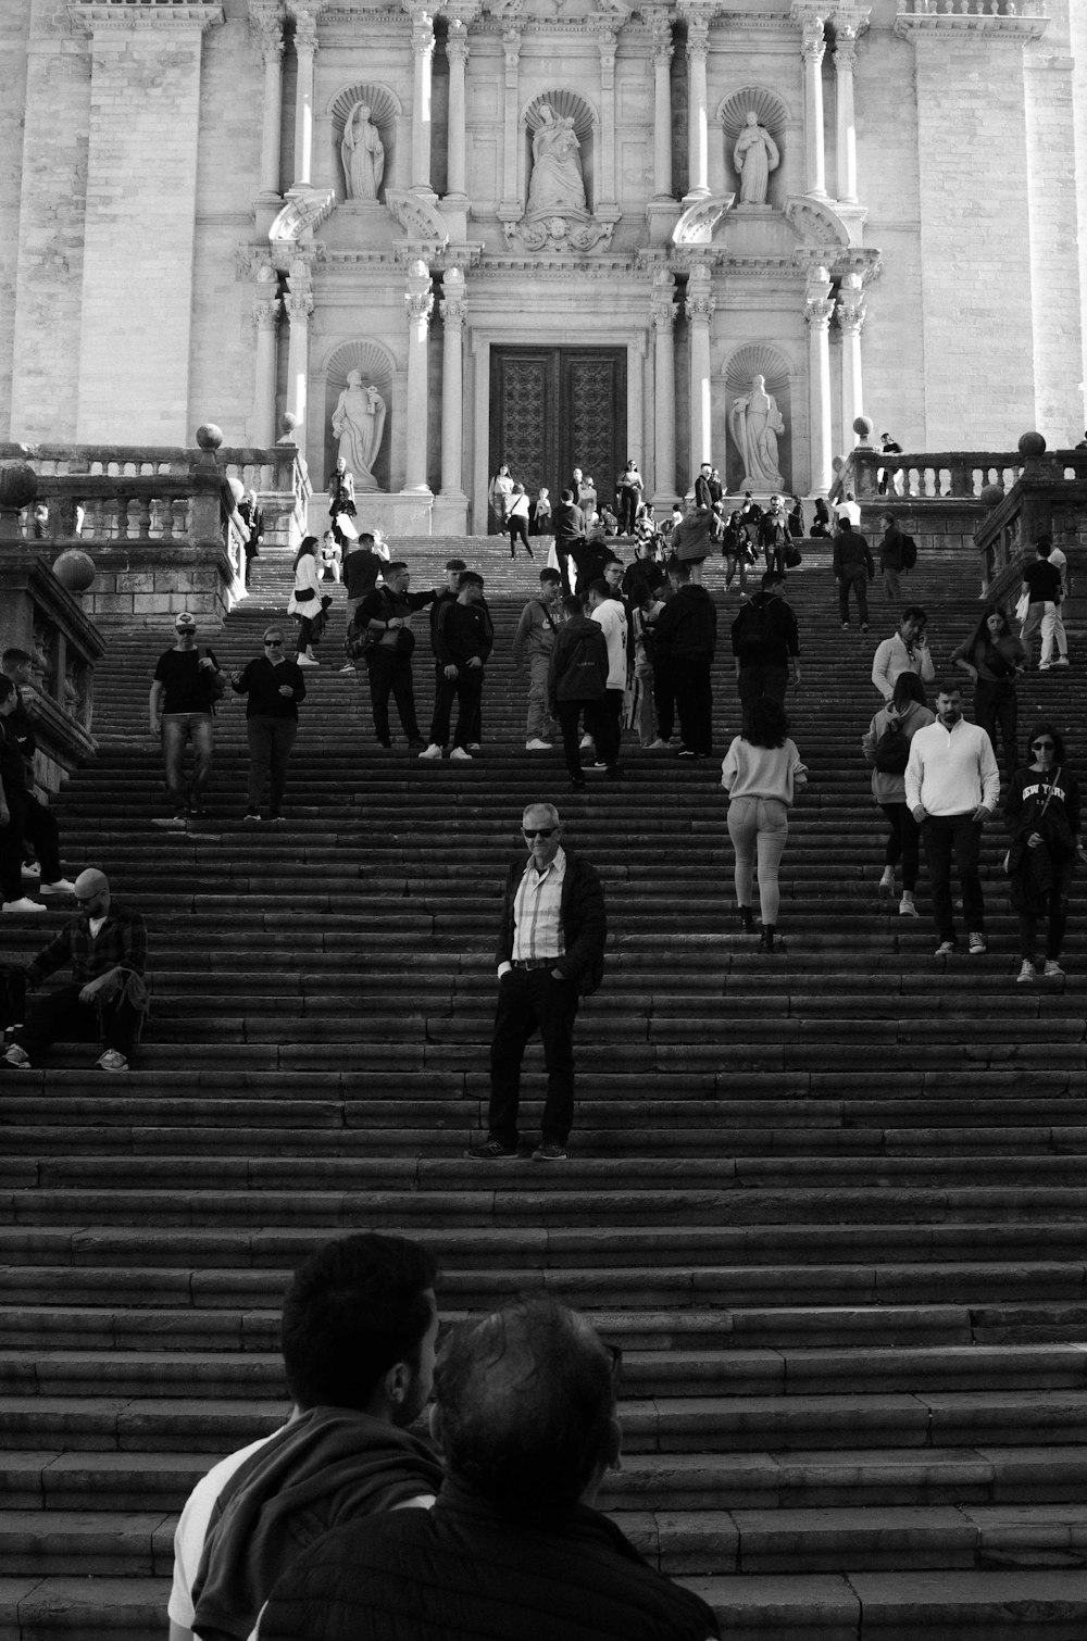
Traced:
<path fill-rule="evenodd" d="M 166 791 L 172 804 L 172 819 L 159 825 L 186 825 L 190 816 L 199 816 L 204 788 L 212 773 L 215 748 L 213 712 L 227 674 L 210 650 L 197 650 L 195 615 L 181 610 L 174 620 L 177 642 L 172 650 L 159 655 L 148 711 L 151 734 L 163 743 L 166 765 Z M 186 745 L 192 745 L 192 776 L 186 786 Z"/>

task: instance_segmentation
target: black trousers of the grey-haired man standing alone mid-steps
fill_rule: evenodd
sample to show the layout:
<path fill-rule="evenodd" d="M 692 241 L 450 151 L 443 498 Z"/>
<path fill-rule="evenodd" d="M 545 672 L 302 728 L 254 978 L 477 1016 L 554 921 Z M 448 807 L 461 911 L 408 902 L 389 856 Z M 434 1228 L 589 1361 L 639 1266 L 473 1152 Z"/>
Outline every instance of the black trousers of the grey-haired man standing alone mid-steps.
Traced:
<path fill-rule="evenodd" d="M 540 1139 L 566 1144 L 573 1126 L 573 1022 L 578 991 L 568 980 L 552 980 L 550 968 L 511 968 L 498 983 L 491 1040 L 491 1108 L 488 1134 L 512 1149 L 517 1140 L 521 1062 L 539 1031 L 547 1070 Z"/>

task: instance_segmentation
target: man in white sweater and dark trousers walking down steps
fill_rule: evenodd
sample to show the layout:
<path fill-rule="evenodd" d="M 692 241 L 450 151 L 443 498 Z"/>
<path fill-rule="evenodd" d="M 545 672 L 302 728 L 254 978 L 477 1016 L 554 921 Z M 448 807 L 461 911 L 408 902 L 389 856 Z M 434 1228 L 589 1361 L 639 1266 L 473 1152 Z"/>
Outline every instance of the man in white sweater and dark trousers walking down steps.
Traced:
<path fill-rule="evenodd" d="M 939 688 L 936 722 L 920 729 L 910 742 L 906 765 L 906 806 L 921 825 L 933 884 L 936 957 L 951 957 L 959 944 L 951 899 L 952 852 L 970 953 L 985 950 L 985 901 L 977 862 L 982 827 L 998 799 L 1000 771 L 992 742 L 984 729 L 962 717 L 962 691 L 951 679 Z"/>

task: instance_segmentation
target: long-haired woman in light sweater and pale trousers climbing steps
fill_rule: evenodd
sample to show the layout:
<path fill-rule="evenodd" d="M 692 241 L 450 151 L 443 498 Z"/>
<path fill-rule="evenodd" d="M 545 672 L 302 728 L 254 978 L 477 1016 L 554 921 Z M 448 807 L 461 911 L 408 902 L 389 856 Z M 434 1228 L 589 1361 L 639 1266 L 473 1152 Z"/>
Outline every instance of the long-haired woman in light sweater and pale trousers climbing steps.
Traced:
<path fill-rule="evenodd" d="M 724 755 L 721 784 L 729 794 L 729 837 L 736 852 L 736 909 L 744 934 L 755 934 L 752 912 L 755 858 L 762 950 L 775 945 L 780 891 L 778 866 L 788 840 L 793 793 L 808 779 L 796 743 L 788 738 L 785 711 L 770 696 L 747 709 L 747 722 Z"/>

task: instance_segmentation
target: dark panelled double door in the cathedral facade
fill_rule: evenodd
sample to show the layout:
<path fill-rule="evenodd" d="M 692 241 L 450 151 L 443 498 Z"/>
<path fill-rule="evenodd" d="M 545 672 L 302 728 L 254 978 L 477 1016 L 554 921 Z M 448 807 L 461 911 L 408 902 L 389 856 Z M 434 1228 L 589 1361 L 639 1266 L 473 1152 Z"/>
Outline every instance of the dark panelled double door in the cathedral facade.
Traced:
<path fill-rule="evenodd" d="M 553 507 L 581 468 L 603 505 L 626 466 L 626 427 L 624 348 L 491 348 L 491 478 L 506 461 L 530 497 L 545 484 Z"/>

